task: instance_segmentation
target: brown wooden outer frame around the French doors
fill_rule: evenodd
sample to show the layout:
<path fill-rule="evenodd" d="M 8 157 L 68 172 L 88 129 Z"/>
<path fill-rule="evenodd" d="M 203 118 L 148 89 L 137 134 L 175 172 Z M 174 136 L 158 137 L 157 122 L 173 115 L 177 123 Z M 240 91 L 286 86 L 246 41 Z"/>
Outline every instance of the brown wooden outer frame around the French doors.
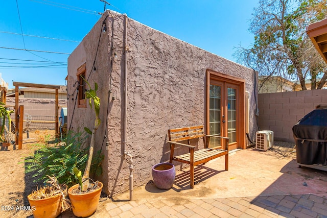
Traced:
<path fill-rule="evenodd" d="M 206 85 L 205 85 L 205 131 L 208 133 L 209 131 L 209 91 L 210 91 L 210 81 L 217 80 L 225 83 L 231 83 L 238 85 L 240 87 L 240 98 L 239 98 L 239 142 L 238 148 L 245 149 L 246 148 L 246 134 L 245 134 L 245 80 L 233 76 L 229 76 L 226 74 L 222 74 L 221 72 L 214 71 L 212 69 L 206 69 Z M 227 106 L 225 106 L 227 107 Z M 227 111 L 227 108 L 225 108 Z"/>

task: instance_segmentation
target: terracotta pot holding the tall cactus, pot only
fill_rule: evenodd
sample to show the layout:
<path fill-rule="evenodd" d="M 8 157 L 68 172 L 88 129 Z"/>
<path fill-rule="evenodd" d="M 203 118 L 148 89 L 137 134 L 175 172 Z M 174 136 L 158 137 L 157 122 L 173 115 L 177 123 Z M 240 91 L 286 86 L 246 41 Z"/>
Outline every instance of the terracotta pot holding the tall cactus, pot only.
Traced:
<path fill-rule="evenodd" d="M 72 193 L 72 190 L 78 188 L 79 184 L 76 184 L 68 189 L 68 196 L 72 203 L 74 215 L 78 217 L 87 217 L 96 212 L 103 187 L 101 182 L 98 182 L 98 185 L 100 188 L 80 195 Z"/>

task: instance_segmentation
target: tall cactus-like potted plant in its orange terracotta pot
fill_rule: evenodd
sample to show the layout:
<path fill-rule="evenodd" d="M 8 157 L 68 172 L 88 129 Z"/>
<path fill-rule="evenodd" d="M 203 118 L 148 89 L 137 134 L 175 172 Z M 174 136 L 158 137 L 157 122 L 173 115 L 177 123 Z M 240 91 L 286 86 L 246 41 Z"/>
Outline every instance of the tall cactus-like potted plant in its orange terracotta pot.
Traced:
<path fill-rule="evenodd" d="M 89 83 L 87 81 L 85 82 L 90 87 Z M 79 184 L 76 184 L 68 189 L 68 196 L 72 202 L 73 213 L 78 217 L 90 216 L 97 210 L 101 190 L 103 187 L 103 184 L 101 182 L 93 182 L 93 180 L 89 178 L 89 172 L 95 145 L 95 134 L 101 124 L 101 119 L 99 117 L 100 98 L 97 96 L 97 90 L 98 84 L 95 83 L 95 89 L 90 88 L 90 90 L 85 92 L 86 98 L 89 99 L 90 107 L 92 108 L 93 102 L 96 113 L 95 125 L 93 130 L 90 131 L 88 128 L 84 128 L 86 132 L 91 134 L 91 141 L 85 171 L 82 176 L 82 172 L 78 168 L 74 168 L 74 173 L 79 179 Z M 92 183 L 90 183 L 90 181 L 92 181 Z"/>

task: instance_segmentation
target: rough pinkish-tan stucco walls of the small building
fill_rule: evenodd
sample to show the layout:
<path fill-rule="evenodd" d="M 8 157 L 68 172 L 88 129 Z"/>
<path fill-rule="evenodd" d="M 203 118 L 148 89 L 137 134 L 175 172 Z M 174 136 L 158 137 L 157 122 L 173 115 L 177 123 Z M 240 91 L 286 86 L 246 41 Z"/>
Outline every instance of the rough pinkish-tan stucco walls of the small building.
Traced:
<path fill-rule="evenodd" d="M 103 20 L 107 15 L 107 32 L 101 35 L 95 61 L 97 70 L 94 71 L 92 64 Z M 111 195 L 127 190 L 129 185 L 128 158 L 124 160 L 121 155 L 124 150 L 124 40 L 124 15 L 106 11 L 68 58 L 70 99 L 75 99 L 76 69 L 83 63 L 86 62 L 86 77 L 90 74 L 90 84 L 93 84 L 92 81 L 99 84 L 102 126 L 97 132 L 97 149 L 103 146 L 105 154 L 104 174 L 99 179 L 105 183 L 105 191 Z M 147 183 L 151 179 L 151 166 L 169 160 L 169 144 L 166 143 L 169 128 L 204 125 L 207 68 L 246 81 L 246 91 L 250 92 L 250 135 L 254 135 L 255 98 L 252 69 L 129 18 L 127 46 L 126 143 L 127 151 L 133 155 L 134 185 Z M 69 117 L 74 114 L 71 126 L 91 128 L 94 119 L 89 106 L 86 109 L 73 109 L 74 105 L 75 101 L 68 101 L 68 120 L 71 120 Z M 109 142 L 107 149 L 103 143 L 104 136 Z M 200 141 L 199 147 L 201 146 L 203 145 Z"/>

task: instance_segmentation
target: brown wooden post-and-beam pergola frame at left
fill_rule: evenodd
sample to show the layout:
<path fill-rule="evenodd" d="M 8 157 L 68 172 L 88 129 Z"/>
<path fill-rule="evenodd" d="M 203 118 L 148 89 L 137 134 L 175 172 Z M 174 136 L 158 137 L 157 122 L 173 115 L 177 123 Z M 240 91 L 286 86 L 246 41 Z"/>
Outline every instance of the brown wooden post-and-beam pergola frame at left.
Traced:
<path fill-rule="evenodd" d="M 21 82 L 13 82 L 13 85 L 15 86 L 15 125 L 16 125 L 16 145 L 18 144 L 18 149 L 22 148 L 22 128 L 23 128 L 22 119 L 24 118 L 24 107 L 19 107 L 19 101 L 18 101 L 19 86 L 33 87 L 33 88 L 49 88 L 49 89 L 56 90 L 56 104 L 55 104 L 56 127 L 55 128 L 56 128 L 56 137 L 57 137 L 59 135 L 58 90 L 59 90 L 60 86 L 59 85 L 43 85 L 43 84 L 35 84 L 35 83 L 21 83 Z"/>

